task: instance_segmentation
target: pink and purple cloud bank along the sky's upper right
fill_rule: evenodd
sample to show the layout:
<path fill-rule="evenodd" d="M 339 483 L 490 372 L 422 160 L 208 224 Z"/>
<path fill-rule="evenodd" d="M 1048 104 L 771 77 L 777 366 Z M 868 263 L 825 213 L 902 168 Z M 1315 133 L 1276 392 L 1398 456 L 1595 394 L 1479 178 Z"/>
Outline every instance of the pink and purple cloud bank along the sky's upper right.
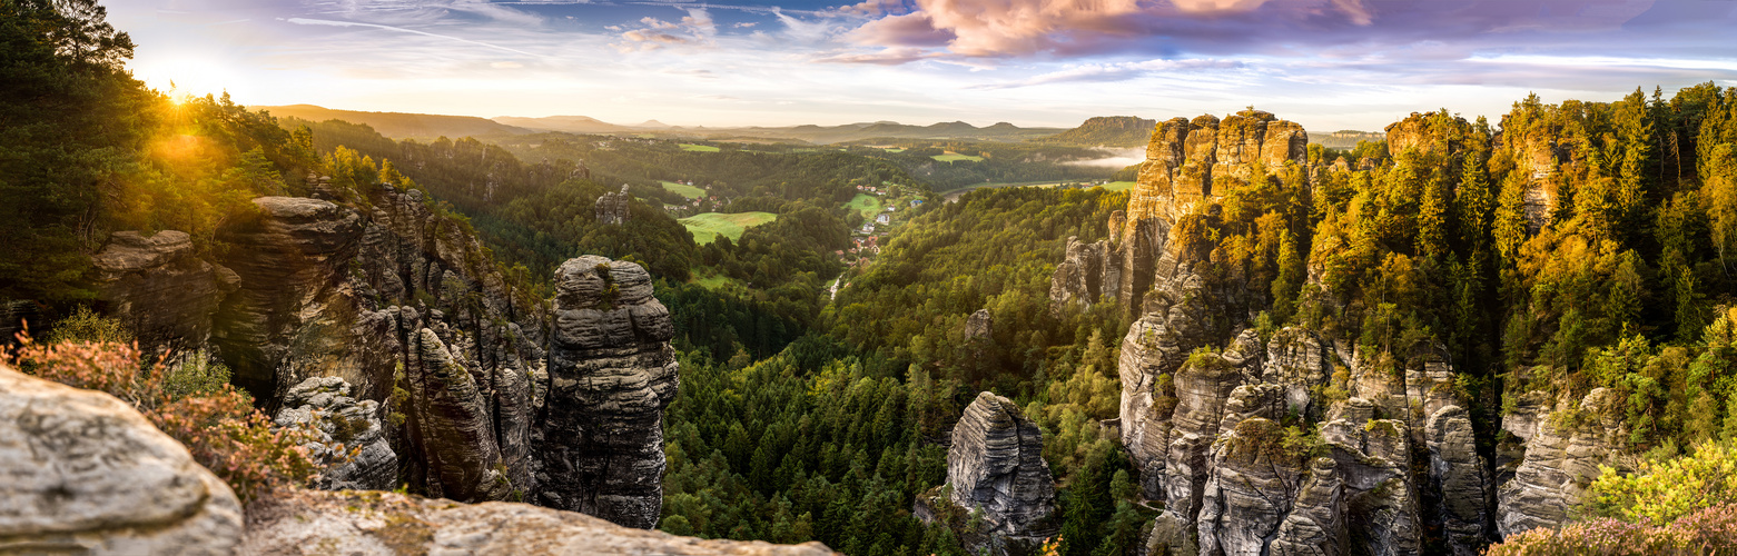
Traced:
<path fill-rule="evenodd" d="M 1417 42 L 1527 47 L 1629 23 L 1688 21 L 1652 0 L 867 0 L 837 9 L 865 19 L 844 38 L 865 49 L 928 47 L 948 57 L 1100 54 L 1372 52 Z M 1730 5 L 1713 21 L 1730 24 Z M 1701 12 L 1716 9 L 1697 9 Z M 1648 19 L 1652 17 L 1652 19 Z M 1701 14 L 1709 17 L 1709 14 Z M 1728 30 L 1727 30 L 1728 31 Z M 1709 26 L 1706 33 L 1714 33 Z"/>

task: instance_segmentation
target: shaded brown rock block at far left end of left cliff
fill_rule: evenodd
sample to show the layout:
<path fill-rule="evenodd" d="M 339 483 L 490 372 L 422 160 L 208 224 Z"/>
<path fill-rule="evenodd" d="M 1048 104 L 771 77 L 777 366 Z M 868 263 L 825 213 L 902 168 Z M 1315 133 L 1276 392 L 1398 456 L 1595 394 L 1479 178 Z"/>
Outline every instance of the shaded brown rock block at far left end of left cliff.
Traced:
<path fill-rule="evenodd" d="M 193 240 L 174 229 L 116 231 L 90 262 L 97 302 L 148 351 L 203 346 L 217 304 L 240 283 L 234 271 L 196 257 Z"/>

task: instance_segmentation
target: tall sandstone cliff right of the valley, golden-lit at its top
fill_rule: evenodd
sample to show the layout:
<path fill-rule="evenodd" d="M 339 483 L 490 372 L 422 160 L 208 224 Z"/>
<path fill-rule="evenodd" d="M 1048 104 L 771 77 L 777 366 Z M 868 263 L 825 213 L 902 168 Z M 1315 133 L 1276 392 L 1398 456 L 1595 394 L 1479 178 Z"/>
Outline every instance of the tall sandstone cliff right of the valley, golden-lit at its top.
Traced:
<path fill-rule="evenodd" d="M 1424 123 L 1388 132 L 1410 149 L 1454 148 Z M 1497 520 L 1542 514 L 1529 526 L 1560 523 L 1549 511 L 1572 493 L 1537 500 L 1542 488 L 1516 485 L 1551 483 L 1562 466 L 1551 464 L 1549 447 L 1567 440 L 1516 433 L 1530 440 L 1527 464 L 1515 464 L 1525 474 L 1515 473 L 1497 497 L 1499 478 L 1478 452 L 1438 346 L 1358 353 L 1331 330 L 1306 327 L 1263 337 L 1249 330 L 1256 285 L 1202 271 L 1214 264 L 1212 245 L 1186 243 L 1200 235 L 1185 228 L 1216 226 L 1219 215 L 1218 207 L 1190 207 L 1259 169 L 1304 163 L 1304 141 L 1299 127 L 1265 113 L 1178 118 L 1153 134 L 1117 236 L 1124 252 L 1133 231 L 1152 243 L 1146 261 L 1122 257 L 1119 294 L 1138 299 L 1119 361 L 1122 441 L 1141 495 L 1164 506 L 1148 553 L 1416 554 L 1430 546 L 1476 554 L 1496 539 Z M 1054 302 L 1089 292 L 1075 276 L 1094 254 L 1070 245 L 1053 280 Z M 1139 276 L 1150 276 L 1148 285 Z M 1070 295 L 1056 295 L 1063 290 Z M 1225 348 L 1202 351 L 1207 346 Z M 1532 502 L 1499 502 L 1509 499 Z"/>

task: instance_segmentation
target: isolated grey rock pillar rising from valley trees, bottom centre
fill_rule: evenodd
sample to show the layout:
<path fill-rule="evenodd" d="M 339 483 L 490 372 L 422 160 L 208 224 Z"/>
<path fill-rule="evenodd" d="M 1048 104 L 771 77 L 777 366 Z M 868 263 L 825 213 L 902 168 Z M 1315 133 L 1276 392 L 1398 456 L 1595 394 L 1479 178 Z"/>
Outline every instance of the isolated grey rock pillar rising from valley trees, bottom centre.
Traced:
<path fill-rule="evenodd" d="M 980 393 L 954 426 L 947 450 L 952 504 L 983 518 L 973 549 L 1006 553 L 1054 533 L 1056 485 L 1044 462 L 1044 434 L 1013 400 Z"/>

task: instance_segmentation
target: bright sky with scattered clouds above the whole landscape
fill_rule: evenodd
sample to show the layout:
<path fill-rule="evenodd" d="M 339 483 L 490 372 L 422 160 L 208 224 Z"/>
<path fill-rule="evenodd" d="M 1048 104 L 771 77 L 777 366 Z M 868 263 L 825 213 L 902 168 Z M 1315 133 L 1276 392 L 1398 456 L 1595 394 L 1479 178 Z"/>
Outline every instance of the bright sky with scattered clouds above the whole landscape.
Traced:
<path fill-rule="evenodd" d="M 1447 108 L 1737 87 L 1737 0 L 104 0 L 130 64 L 240 104 L 611 123 Z"/>

